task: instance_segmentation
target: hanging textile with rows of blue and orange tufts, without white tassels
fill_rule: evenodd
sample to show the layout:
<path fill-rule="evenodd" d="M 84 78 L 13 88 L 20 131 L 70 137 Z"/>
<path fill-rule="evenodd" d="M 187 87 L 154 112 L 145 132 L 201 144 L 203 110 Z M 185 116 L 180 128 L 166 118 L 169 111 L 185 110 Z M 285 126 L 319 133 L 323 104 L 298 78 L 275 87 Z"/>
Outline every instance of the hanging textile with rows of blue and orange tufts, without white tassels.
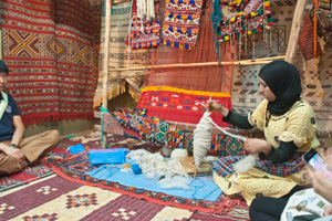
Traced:
<path fill-rule="evenodd" d="M 197 44 L 203 0 L 166 0 L 163 42 L 191 50 Z"/>

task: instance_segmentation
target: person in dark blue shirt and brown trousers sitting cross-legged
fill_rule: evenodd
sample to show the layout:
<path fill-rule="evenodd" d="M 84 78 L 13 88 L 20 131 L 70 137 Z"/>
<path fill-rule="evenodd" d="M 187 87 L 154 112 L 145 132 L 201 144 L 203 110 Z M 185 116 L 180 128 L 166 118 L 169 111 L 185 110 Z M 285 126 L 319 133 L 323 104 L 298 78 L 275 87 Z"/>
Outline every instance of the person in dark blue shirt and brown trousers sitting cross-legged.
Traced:
<path fill-rule="evenodd" d="M 38 164 L 61 139 L 58 130 L 24 138 L 19 106 L 7 91 L 9 69 L 0 60 L 0 176 Z"/>

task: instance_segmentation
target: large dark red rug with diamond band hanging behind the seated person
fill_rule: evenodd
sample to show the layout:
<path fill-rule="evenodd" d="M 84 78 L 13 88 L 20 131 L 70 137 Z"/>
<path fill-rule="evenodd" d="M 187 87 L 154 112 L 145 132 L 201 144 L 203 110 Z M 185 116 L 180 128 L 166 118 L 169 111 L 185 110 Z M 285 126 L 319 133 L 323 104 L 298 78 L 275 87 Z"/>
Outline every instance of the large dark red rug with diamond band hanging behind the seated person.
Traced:
<path fill-rule="evenodd" d="M 93 118 L 100 4 L 0 0 L 8 86 L 25 125 Z"/>

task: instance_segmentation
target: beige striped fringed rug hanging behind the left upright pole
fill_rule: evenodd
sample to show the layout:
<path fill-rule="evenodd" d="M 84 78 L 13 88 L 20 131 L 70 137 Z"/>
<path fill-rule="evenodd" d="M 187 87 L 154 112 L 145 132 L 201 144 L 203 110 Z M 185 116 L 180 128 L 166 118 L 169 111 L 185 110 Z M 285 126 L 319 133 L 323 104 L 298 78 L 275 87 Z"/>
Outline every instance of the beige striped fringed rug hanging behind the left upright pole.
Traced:
<path fill-rule="evenodd" d="M 105 4 L 105 1 L 103 1 Z M 101 44 L 100 44 L 100 72 L 97 87 L 94 95 L 94 106 L 100 106 L 103 101 L 103 65 L 104 65 L 104 42 L 105 42 L 105 6 L 103 4 L 102 10 L 102 29 L 101 29 Z M 128 27 L 131 21 L 131 1 L 121 1 L 116 3 L 113 1 L 112 13 L 111 13 L 111 40 L 110 40 L 110 69 L 121 69 L 133 66 L 143 66 L 147 57 L 146 50 L 133 50 L 131 53 L 127 53 L 128 46 L 125 44 L 126 38 L 128 35 Z M 127 74 L 135 74 L 137 72 L 127 72 Z M 110 72 L 110 78 L 116 78 L 116 72 Z M 142 76 L 132 77 L 131 81 L 138 88 L 143 82 Z M 125 91 L 125 81 L 113 80 L 108 81 L 108 99 L 122 94 Z M 137 102 L 139 94 L 134 87 L 128 85 L 129 94 Z"/>

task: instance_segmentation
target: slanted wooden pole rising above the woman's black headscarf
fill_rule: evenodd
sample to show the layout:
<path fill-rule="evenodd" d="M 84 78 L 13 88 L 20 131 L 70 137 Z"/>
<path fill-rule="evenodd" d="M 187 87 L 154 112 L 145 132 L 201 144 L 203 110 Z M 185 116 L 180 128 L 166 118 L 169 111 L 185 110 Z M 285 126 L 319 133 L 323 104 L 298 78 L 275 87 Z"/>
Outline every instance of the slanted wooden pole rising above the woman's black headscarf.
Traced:
<path fill-rule="evenodd" d="M 297 46 L 298 46 L 298 42 L 299 42 L 299 35 L 300 35 L 300 31 L 301 31 L 301 27 L 302 27 L 305 3 L 307 3 L 307 1 L 304 1 L 304 0 L 297 2 L 294 15 L 293 15 L 292 28 L 291 28 L 291 33 L 289 35 L 286 59 L 284 59 L 284 61 L 287 61 L 289 63 L 293 63 L 293 60 L 294 60 L 294 53 L 297 51 Z"/>

